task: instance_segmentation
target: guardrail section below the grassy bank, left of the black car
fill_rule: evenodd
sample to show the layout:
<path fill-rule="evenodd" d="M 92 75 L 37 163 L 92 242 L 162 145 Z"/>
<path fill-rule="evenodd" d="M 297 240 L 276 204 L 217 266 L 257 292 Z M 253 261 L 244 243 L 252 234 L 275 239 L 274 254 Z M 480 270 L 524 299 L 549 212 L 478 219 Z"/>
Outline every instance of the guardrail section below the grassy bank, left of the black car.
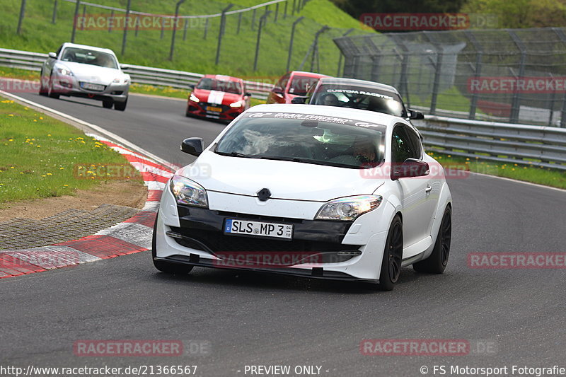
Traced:
<path fill-rule="evenodd" d="M 47 54 L 0 48 L 0 66 L 40 71 L 45 59 L 47 59 Z M 178 89 L 188 89 L 190 85 L 197 83 L 204 76 L 192 72 L 137 65 L 129 65 L 125 72 L 132 77 L 132 83 L 170 86 Z M 244 81 L 244 83 L 246 84 L 246 91 L 260 100 L 265 100 L 269 91 L 273 88 L 270 83 L 257 81 Z"/>

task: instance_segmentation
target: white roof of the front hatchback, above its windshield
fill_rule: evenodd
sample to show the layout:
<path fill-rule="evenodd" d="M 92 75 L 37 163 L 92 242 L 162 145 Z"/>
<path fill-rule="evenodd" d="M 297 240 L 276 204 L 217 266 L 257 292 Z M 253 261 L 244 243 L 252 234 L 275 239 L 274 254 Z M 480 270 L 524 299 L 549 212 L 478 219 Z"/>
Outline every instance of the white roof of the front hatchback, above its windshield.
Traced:
<path fill-rule="evenodd" d="M 273 103 L 270 105 L 255 105 L 246 112 L 291 112 L 309 115 L 324 115 L 328 117 L 342 117 L 352 120 L 362 120 L 374 124 L 389 126 L 397 123 L 409 124 L 402 117 L 352 108 L 337 108 L 336 106 L 324 105 L 299 105 L 289 103 Z"/>

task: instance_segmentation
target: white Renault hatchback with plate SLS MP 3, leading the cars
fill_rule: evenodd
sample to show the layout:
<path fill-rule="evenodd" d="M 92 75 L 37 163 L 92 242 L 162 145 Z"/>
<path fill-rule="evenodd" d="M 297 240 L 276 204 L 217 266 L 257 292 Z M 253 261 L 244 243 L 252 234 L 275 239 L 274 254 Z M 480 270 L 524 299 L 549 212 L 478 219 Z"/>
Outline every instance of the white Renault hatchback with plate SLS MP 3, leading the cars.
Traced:
<path fill-rule="evenodd" d="M 157 269 L 247 269 L 393 289 L 401 268 L 441 273 L 452 199 L 444 170 L 403 118 L 258 105 L 178 170 L 161 198 Z"/>

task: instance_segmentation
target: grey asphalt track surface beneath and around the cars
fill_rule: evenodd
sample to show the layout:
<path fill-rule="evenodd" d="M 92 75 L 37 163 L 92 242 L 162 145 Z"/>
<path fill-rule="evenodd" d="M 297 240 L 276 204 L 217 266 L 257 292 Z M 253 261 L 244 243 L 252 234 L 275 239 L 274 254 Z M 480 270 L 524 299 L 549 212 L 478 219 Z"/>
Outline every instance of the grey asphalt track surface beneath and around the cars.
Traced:
<path fill-rule="evenodd" d="M 224 127 L 186 118 L 176 100 L 132 95 L 118 112 L 86 100 L 21 96 L 178 164 L 190 161 L 178 151 L 183 138 L 209 142 Z M 197 376 L 246 376 L 246 365 L 274 364 L 322 366 L 322 376 L 422 376 L 422 366 L 432 376 L 434 365 L 566 366 L 566 270 L 471 269 L 466 262 L 474 252 L 564 253 L 566 193 L 481 175 L 449 185 L 453 240 L 444 274 L 405 268 L 391 292 L 204 268 L 173 277 L 157 272 L 148 252 L 2 279 L 0 365 L 197 365 Z M 212 352 L 73 353 L 76 340 L 122 339 L 207 340 Z M 480 352 L 364 356 L 364 339 L 468 340 Z M 481 352 L 482 344 L 490 350 Z"/>

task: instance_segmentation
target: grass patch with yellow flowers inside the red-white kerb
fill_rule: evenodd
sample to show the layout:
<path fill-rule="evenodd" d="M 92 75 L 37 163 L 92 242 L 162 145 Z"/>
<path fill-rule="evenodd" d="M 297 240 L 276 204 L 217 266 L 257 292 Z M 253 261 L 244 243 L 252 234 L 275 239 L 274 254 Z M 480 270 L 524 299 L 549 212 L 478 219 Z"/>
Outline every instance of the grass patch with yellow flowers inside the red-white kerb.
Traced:
<path fill-rule="evenodd" d="M 0 205 L 87 190 L 107 179 L 96 175 L 101 166 L 133 173 L 119 153 L 78 129 L 0 98 Z M 129 179 L 141 182 L 139 173 Z"/>

